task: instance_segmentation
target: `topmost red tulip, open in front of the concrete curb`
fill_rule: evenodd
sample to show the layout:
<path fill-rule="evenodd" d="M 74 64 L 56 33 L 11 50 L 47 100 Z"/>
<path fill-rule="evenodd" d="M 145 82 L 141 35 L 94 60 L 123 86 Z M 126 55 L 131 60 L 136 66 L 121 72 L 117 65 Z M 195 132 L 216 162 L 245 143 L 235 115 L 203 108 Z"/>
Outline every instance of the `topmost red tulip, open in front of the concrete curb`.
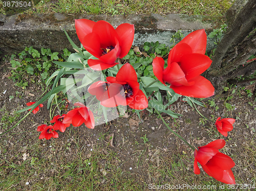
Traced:
<path fill-rule="evenodd" d="M 88 65 L 103 70 L 116 65 L 116 59 L 130 51 L 134 38 L 134 25 L 123 23 L 116 29 L 109 22 L 88 19 L 75 20 L 77 36 L 86 49 L 98 60 L 89 59 Z"/>

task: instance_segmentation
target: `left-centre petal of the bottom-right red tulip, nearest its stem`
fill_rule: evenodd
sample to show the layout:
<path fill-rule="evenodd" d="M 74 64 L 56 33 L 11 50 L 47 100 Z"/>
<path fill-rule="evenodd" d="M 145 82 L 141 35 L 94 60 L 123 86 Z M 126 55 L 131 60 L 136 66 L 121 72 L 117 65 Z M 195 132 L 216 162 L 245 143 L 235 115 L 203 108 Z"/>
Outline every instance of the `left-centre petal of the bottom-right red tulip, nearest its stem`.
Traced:
<path fill-rule="evenodd" d="M 217 153 L 219 153 L 219 151 L 214 148 L 199 148 L 197 153 L 197 161 L 201 165 L 205 165 Z"/>

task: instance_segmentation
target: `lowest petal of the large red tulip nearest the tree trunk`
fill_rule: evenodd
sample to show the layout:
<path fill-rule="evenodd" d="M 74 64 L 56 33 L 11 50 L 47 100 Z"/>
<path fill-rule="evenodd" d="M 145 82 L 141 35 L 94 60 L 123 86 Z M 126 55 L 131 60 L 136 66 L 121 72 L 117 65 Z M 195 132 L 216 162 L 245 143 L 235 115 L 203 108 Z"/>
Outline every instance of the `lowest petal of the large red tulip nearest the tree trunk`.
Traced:
<path fill-rule="evenodd" d="M 194 98 L 208 98 L 214 95 L 214 86 L 204 77 L 198 76 L 188 82 L 194 82 L 195 84 L 191 86 L 170 85 L 170 88 L 178 94 Z"/>

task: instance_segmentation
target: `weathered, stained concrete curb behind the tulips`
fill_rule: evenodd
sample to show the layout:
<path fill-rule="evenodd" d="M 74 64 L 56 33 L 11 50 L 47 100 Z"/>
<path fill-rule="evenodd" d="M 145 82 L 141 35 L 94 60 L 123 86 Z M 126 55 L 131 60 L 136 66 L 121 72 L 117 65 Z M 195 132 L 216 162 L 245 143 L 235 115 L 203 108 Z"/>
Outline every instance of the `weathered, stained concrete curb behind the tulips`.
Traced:
<path fill-rule="evenodd" d="M 170 38 L 177 31 L 187 35 L 191 31 L 205 29 L 206 32 L 215 28 L 215 24 L 202 16 L 184 14 L 139 14 L 139 15 L 74 15 L 74 14 L 18 14 L 12 16 L 0 15 L 0 51 L 4 54 L 23 51 L 25 46 L 50 48 L 61 52 L 65 47 L 72 49 L 63 28 L 71 39 L 79 45 L 75 33 L 75 19 L 86 18 L 94 21 L 106 20 L 114 28 L 121 23 L 131 23 L 135 26 L 134 45 L 142 46 L 145 41 L 159 41 L 170 46 Z M 207 50 L 214 43 L 208 43 Z"/>

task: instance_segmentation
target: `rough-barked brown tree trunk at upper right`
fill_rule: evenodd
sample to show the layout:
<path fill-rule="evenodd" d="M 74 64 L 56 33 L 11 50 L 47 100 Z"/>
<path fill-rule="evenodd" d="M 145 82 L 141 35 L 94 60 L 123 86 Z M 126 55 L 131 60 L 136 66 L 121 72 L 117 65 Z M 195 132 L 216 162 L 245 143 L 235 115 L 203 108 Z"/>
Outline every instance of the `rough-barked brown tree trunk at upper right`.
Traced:
<path fill-rule="evenodd" d="M 212 64 L 206 73 L 216 88 L 216 94 L 221 93 L 221 86 L 229 79 L 251 75 L 256 70 L 255 60 L 246 62 L 256 53 L 256 0 L 237 0 L 234 5 L 244 7 L 232 16 L 232 24 L 217 46 Z M 230 20 L 230 19 L 229 19 Z"/>

